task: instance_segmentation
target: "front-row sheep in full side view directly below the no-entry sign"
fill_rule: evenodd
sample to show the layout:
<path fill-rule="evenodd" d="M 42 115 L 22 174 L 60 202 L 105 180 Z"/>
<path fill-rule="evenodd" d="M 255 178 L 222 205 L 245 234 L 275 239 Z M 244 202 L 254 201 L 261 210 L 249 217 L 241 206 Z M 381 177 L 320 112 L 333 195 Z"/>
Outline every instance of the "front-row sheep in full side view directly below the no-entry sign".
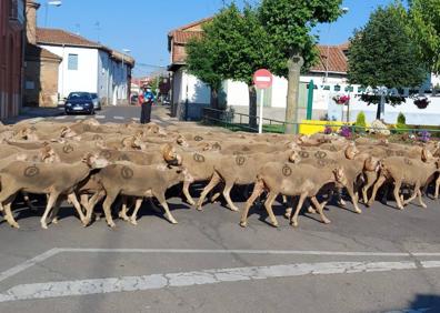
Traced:
<path fill-rule="evenodd" d="M 317 169 L 309 164 L 288 164 L 282 162 L 269 162 L 262 166 L 257 175 L 257 181 L 251 196 L 246 202 L 241 214 L 240 225 L 246 228 L 248 224 L 248 213 L 256 199 L 264 191 L 268 196 L 264 208 L 268 211 L 269 219 L 273 226 L 278 226 L 278 221 L 272 211 L 272 203 L 278 194 L 296 196 L 299 195 L 299 202 L 294 214 L 291 216 L 293 226 L 298 226 L 298 214 L 307 198 L 318 210 L 323 223 L 330 223 L 330 220 L 323 213 L 322 205 L 317 200 L 319 190 L 329 183 L 347 184 L 343 169 L 323 168 Z"/>

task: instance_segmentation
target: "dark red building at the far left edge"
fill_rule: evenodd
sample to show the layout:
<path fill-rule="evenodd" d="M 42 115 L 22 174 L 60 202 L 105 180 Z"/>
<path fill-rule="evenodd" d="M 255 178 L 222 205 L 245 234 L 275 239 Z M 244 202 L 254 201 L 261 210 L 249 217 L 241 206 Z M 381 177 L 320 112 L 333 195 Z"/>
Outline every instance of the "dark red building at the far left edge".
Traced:
<path fill-rule="evenodd" d="M 24 29 L 24 0 L 0 0 L 0 119 L 21 107 Z"/>

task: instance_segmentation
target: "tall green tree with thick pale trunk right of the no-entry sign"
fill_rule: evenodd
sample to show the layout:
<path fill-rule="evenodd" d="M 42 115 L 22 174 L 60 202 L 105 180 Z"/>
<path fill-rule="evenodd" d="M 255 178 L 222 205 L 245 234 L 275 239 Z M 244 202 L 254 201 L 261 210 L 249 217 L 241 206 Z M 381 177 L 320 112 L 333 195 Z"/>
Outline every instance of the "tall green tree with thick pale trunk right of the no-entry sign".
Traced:
<path fill-rule="evenodd" d="M 270 69 L 288 79 L 286 121 L 298 122 L 299 79 L 317 57 L 318 38 L 311 34 L 317 23 L 336 21 L 342 13 L 342 0 L 262 0 L 260 22 L 272 49 Z M 288 125 L 287 133 L 296 132 Z"/>

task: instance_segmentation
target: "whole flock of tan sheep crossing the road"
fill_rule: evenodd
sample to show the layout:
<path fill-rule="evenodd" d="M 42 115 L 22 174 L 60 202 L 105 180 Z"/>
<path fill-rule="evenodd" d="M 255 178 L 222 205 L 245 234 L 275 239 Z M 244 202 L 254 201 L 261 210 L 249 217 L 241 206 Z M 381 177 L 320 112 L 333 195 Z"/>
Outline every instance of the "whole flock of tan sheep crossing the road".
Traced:
<path fill-rule="evenodd" d="M 70 124 L 0 124 L 0 210 L 11 226 L 19 228 L 12 214 L 16 198 L 21 194 L 34 210 L 32 198 L 43 194 L 43 229 L 48 220 L 58 222 L 64 200 L 86 226 L 102 202 L 107 223 L 113 228 L 112 209 L 136 224 L 142 201 L 156 198 L 167 220 L 177 223 L 166 200 L 166 191 L 173 185 L 182 183 L 186 201 L 198 210 L 210 195 L 210 201 L 222 196 L 232 211 L 239 211 L 230 196 L 232 188 L 253 185 L 241 226 L 247 225 L 249 209 L 261 196 L 274 226 L 272 204 L 277 199 L 286 204 L 286 218 L 294 226 L 304 204 L 329 223 L 323 208 L 333 196 L 344 205 L 348 195 L 354 211 L 361 213 L 359 201 L 371 205 L 380 188 L 386 195 L 393 189 L 401 210 L 416 198 L 426 208 L 423 195 L 430 186 L 434 198 L 439 195 L 439 156 L 436 142 L 404 145 L 326 134 L 258 135 L 184 124 L 166 129 L 100 124 L 93 119 Z M 202 182 L 208 184 L 196 203 L 190 186 Z"/>

